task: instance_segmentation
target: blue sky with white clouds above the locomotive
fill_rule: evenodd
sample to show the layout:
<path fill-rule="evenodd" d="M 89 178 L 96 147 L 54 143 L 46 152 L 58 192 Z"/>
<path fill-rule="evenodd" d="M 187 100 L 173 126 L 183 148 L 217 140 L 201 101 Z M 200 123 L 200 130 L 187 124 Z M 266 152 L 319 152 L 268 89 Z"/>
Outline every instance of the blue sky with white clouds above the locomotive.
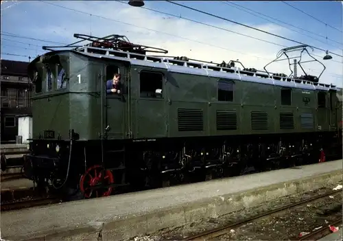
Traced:
<path fill-rule="evenodd" d="M 134 8 L 127 3 L 1 1 L 1 59 L 28 61 L 30 56 L 33 60 L 46 52 L 43 45 L 58 46 L 78 41 L 73 38 L 75 33 L 93 36 L 121 34 L 132 43 L 167 49 L 168 56 L 213 62 L 238 59 L 245 67 L 263 70 L 280 49 L 299 45 L 166 1 L 145 1 L 145 8 Z M 176 3 L 343 56 L 341 1 Z M 331 60 L 322 60 L 324 51 L 308 50 L 327 68 L 320 82 L 342 87 L 343 58 L 331 54 Z M 302 60 L 310 60 L 310 57 L 303 54 Z M 314 76 L 319 76 L 323 69 L 318 62 L 304 63 L 303 67 L 307 74 Z M 287 75 L 291 73 L 287 60 L 273 62 L 267 69 Z M 298 67 L 298 76 L 303 74 Z"/>

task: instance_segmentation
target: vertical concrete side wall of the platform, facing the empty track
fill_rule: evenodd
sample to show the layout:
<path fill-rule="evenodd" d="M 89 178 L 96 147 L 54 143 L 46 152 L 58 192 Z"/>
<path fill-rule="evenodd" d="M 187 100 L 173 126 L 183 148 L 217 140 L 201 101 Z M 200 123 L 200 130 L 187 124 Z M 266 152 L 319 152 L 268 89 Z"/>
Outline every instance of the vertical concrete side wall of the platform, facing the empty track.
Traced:
<path fill-rule="evenodd" d="M 317 176 L 294 179 L 233 194 L 184 203 L 172 208 L 158 209 L 147 214 L 117 217 L 104 223 L 99 220 L 86 227 L 58 227 L 25 237 L 3 237 L 5 240 L 123 240 L 154 233 L 158 230 L 181 227 L 202 218 L 217 218 L 240 209 L 254 207 L 268 200 L 309 192 L 342 181 L 342 170 Z M 69 237 L 69 238 L 67 238 Z"/>

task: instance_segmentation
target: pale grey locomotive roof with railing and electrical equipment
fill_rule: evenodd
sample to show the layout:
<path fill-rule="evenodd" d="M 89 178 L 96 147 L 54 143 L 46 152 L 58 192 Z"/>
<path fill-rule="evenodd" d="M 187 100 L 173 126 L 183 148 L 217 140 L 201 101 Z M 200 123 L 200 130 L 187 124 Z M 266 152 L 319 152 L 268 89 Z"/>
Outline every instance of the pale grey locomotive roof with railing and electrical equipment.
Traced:
<path fill-rule="evenodd" d="M 76 35 L 78 34 L 74 34 L 74 36 Z M 103 39 L 103 38 L 100 38 L 100 39 Z M 99 40 L 99 38 L 97 38 L 97 40 Z M 95 42 L 100 43 L 99 41 L 95 41 Z M 69 47 L 69 46 L 72 47 L 71 45 L 67 45 L 66 47 Z M 135 45 L 135 46 L 139 46 L 139 45 Z M 48 48 L 45 47 L 45 49 L 48 49 Z M 157 49 L 157 48 L 152 48 L 152 49 Z M 198 76 L 209 76 L 209 77 L 224 78 L 224 79 L 230 79 L 230 80 L 257 82 L 261 84 L 271 84 L 271 85 L 276 85 L 280 87 L 290 87 L 290 88 L 295 88 L 295 89 L 342 91 L 341 88 L 335 87 L 332 84 L 322 84 L 319 82 L 311 82 L 309 80 L 302 80 L 298 78 L 274 76 L 273 73 L 268 73 L 265 71 L 256 71 L 256 70 L 255 72 L 246 71 L 246 70 L 242 71 L 238 67 L 219 67 L 217 63 L 213 63 L 213 62 L 205 62 L 201 60 L 191 61 L 189 59 L 181 60 L 180 58 L 176 59 L 176 57 L 169 57 L 169 56 L 152 56 L 152 55 L 147 55 L 147 54 L 138 54 L 138 53 L 130 52 L 130 51 L 122 51 L 121 49 L 92 47 L 90 44 L 79 46 L 79 47 L 74 47 L 73 49 L 68 49 L 68 50 L 57 50 L 57 51 L 53 50 L 44 55 L 54 55 L 54 54 L 60 54 L 62 52 L 73 52 L 74 54 L 80 54 L 80 55 L 88 56 L 91 58 L 121 60 L 121 61 L 130 62 L 131 65 L 139 65 L 139 66 L 145 66 L 145 67 L 165 69 L 167 71 L 176 72 L 176 73 L 187 73 L 187 74 L 193 74 L 193 75 L 198 75 Z M 161 53 L 161 51 L 157 51 L 157 52 Z M 165 53 L 167 53 L 167 51 L 165 51 L 164 54 Z M 32 62 L 37 62 L 39 58 L 40 56 L 38 56 Z M 237 62 L 237 61 L 233 61 L 233 62 Z"/>

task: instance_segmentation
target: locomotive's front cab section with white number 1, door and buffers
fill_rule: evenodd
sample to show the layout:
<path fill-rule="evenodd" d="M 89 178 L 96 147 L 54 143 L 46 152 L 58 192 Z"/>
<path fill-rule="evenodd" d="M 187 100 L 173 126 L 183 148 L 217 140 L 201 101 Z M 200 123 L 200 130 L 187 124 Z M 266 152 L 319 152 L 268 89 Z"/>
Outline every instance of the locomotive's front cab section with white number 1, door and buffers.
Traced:
<path fill-rule="evenodd" d="M 68 171 L 84 170 L 76 153 L 86 155 L 85 146 L 95 152 L 97 140 L 126 138 L 127 70 L 126 62 L 74 51 L 51 51 L 30 63 L 34 124 L 24 168 L 29 179 L 58 186 Z M 107 94 L 106 82 L 115 73 L 121 74 L 121 93 Z"/>

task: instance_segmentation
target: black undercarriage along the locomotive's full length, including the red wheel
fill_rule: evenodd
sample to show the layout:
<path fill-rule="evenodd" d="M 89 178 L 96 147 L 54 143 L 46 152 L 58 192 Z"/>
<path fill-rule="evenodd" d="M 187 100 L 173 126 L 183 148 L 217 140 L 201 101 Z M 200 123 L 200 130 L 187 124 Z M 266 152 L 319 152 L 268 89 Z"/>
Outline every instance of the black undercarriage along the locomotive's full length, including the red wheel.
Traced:
<path fill-rule="evenodd" d="M 104 159 L 100 141 L 75 141 L 68 165 L 69 142 L 32 141 L 33 146 L 49 144 L 50 150 L 59 144 L 60 154 L 48 153 L 47 148 L 36 149 L 27 155 L 25 174 L 40 186 L 54 183 L 55 189 L 81 191 L 86 198 L 108 196 L 129 185 L 137 190 L 151 189 L 342 156 L 342 142 L 338 143 L 333 133 L 293 133 L 104 141 L 104 153 L 110 153 Z"/>

